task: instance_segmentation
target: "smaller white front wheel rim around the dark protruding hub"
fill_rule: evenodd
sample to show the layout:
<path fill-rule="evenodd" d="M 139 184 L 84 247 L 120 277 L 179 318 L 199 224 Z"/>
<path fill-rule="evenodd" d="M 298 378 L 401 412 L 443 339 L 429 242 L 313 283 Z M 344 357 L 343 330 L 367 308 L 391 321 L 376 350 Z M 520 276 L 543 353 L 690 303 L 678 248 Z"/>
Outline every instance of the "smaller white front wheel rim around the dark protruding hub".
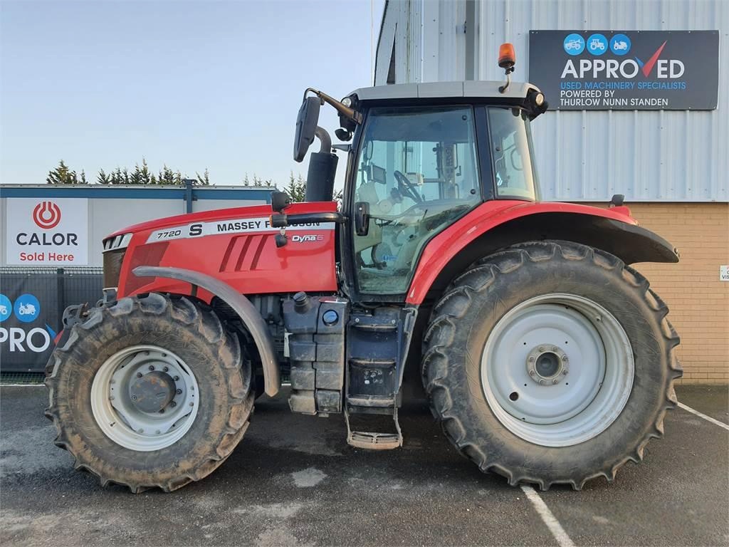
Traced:
<path fill-rule="evenodd" d="M 131 400 L 130 383 L 155 371 L 169 376 L 174 395 L 161 411 L 142 411 Z M 190 430 L 198 414 L 199 392 L 192 370 L 176 354 L 158 346 L 130 346 L 109 357 L 96 372 L 91 411 L 114 443 L 142 452 L 160 450 Z"/>

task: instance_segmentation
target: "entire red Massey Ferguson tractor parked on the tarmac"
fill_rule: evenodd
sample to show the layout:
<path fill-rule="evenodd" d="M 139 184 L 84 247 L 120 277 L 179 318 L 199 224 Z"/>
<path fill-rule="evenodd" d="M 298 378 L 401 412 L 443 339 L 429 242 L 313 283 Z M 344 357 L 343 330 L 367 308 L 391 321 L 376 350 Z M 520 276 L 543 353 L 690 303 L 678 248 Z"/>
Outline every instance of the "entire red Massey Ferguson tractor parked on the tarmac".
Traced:
<path fill-rule="evenodd" d="M 47 367 L 55 443 L 102 485 L 171 491 L 225 461 L 282 375 L 293 412 L 343 414 L 361 449 L 402 446 L 402 387 L 421 377 L 481 470 L 612 480 L 663 434 L 682 373 L 668 309 L 629 264 L 678 256 L 622 196 L 539 201 L 529 125 L 546 108 L 508 77 L 306 90 L 295 159 L 321 150 L 305 203 L 274 192 L 104 239 L 104 299 L 66 310 Z"/>

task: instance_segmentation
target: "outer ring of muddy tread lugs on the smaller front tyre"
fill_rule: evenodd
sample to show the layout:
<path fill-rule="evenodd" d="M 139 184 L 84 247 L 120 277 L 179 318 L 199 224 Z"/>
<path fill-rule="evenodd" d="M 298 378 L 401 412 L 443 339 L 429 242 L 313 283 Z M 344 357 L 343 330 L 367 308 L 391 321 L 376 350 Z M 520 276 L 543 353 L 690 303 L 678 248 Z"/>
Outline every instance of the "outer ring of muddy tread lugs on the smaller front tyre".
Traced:
<path fill-rule="evenodd" d="M 93 457 L 88 454 L 88 447 L 85 446 L 83 438 L 74 430 L 73 423 L 64 423 L 61 419 L 60 408 L 66 401 L 66 393 L 59 385 L 59 371 L 64 366 L 63 360 L 66 354 L 74 349 L 82 336 L 93 335 L 92 330 L 105 320 L 112 317 L 130 316 L 141 314 L 143 316 L 158 315 L 173 319 L 190 336 L 204 338 L 210 345 L 217 348 L 219 363 L 225 371 L 227 387 L 228 413 L 225 427 L 219 431 L 213 442 L 209 443 L 209 449 L 205 457 L 195 462 L 194 468 L 186 473 L 167 478 L 165 481 L 131 481 L 119 476 L 111 476 L 104 472 L 98 465 L 95 465 Z M 74 468 L 85 470 L 96 476 L 101 486 L 109 484 L 120 484 L 127 486 L 133 493 L 143 492 L 146 489 L 158 487 L 165 492 L 179 489 L 192 481 L 199 481 L 208 476 L 213 470 L 222 465 L 230 456 L 231 452 L 241 441 L 244 432 L 249 426 L 252 416 L 254 392 L 251 387 L 250 373 L 244 378 L 241 373 L 241 346 L 238 338 L 231 333 L 220 322 L 217 314 L 203 303 L 192 301 L 188 298 L 171 298 L 168 295 L 149 293 L 148 295 L 122 298 L 109 306 L 91 309 L 85 322 L 78 323 L 72 327 L 71 333 L 63 346 L 59 346 L 53 352 L 46 366 L 45 384 L 49 390 L 49 406 L 45 415 L 55 425 L 57 436 L 56 446 L 71 452 L 74 457 Z M 181 454 L 184 459 L 185 454 Z"/>

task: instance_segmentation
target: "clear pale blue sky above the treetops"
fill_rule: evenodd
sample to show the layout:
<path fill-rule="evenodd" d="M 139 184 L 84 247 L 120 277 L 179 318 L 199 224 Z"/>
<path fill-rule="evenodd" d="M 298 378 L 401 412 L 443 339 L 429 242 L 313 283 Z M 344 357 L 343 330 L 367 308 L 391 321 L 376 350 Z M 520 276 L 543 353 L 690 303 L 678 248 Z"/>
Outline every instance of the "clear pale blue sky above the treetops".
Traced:
<path fill-rule="evenodd" d="M 44 184 L 61 159 L 95 180 L 145 158 L 217 185 L 286 185 L 307 171 L 292 158 L 303 90 L 372 85 L 383 6 L 0 0 L 0 182 Z"/>

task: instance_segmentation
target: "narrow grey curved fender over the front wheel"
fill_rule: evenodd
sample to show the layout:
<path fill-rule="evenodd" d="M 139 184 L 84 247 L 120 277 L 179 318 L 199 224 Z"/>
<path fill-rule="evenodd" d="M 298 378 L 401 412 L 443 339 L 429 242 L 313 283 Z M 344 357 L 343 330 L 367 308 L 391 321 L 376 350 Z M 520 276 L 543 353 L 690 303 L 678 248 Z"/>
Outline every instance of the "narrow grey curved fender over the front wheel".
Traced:
<path fill-rule="evenodd" d="M 271 340 L 270 333 L 268 332 L 268 325 L 266 325 L 261 314 L 248 298 L 241 295 L 233 287 L 230 287 L 229 284 L 215 279 L 212 276 L 200 274 L 198 271 L 185 270 L 183 268 L 137 266 L 134 268 L 133 274 L 138 277 L 178 279 L 179 281 L 190 283 L 195 287 L 200 287 L 227 303 L 238 314 L 238 317 L 241 318 L 243 325 L 251 333 L 257 346 L 263 365 L 266 395 L 273 397 L 278 393 L 278 389 L 281 388 L 281 376 L 279 374 L 278 361 L 276 360 L 276 352 L 273 349 L 273 340 Z"/>

